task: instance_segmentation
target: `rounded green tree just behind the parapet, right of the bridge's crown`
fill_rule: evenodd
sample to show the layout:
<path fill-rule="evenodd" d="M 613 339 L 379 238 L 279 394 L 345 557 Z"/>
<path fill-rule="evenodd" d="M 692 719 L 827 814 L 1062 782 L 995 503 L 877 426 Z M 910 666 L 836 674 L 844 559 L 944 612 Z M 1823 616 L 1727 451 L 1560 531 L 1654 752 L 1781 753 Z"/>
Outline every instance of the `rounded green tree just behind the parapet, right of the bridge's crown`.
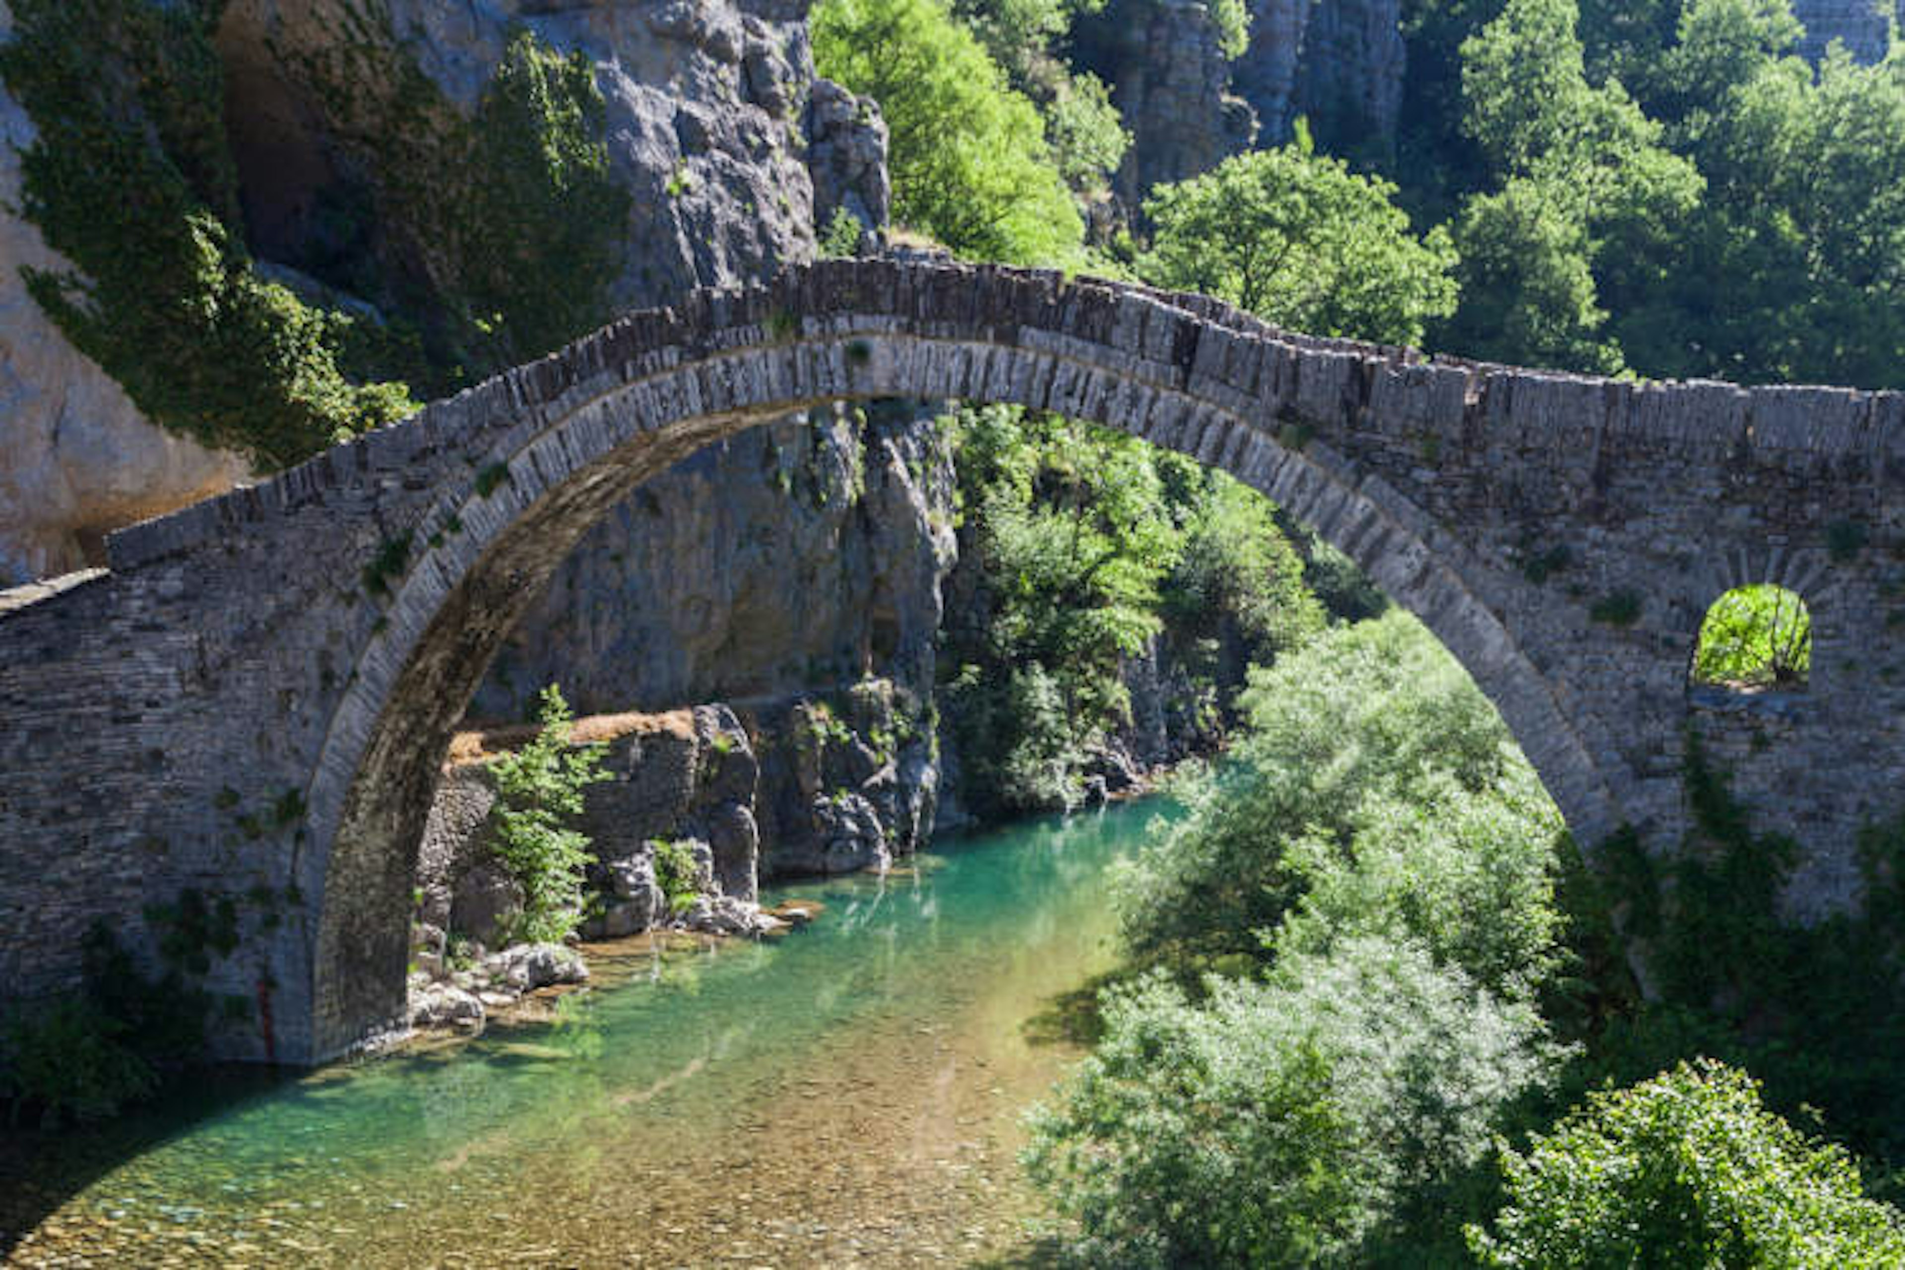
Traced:
<path fill-rule="evenodd" d="M 1455 253 L 1440 228 L 1414 236 L 1393 194 L 1299 131 L 1293 145 L 1153 190 L 1139 272 L 1290 329 L 1419 343 L 1431 318 L 1455 308 Z"/>

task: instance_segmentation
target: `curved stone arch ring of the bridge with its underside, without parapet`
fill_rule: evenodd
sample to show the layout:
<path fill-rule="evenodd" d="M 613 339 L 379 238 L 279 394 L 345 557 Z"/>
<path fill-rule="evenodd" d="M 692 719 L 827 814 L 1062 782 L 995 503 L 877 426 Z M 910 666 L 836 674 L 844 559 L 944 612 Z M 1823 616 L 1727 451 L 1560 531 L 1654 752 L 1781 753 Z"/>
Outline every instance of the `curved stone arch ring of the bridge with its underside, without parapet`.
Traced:
<path fill-rule="evenodd" d="M 834 400 L 947 398 L 1053 409 L 1217 466 L 1274 499 L 1414 611 L 1501 710 L 1577 840 L 1619 823 L 1610 786 L 1553 687 L 1467 581 L 1471 552 L 1381 476 L 1320 444 L 1286 447 L 1250 394 L 1194 387 L 1183 348 L 1156 360 L 1027 329 L 901 329 L 893 318 L 808 320 L 632 381 L 604 371 L 530 411 L 493 451 L 509 482 L 457 482 L 421 527 L 461 526 L 410 569 L 389 626 L 358 661 L 311 792 L 299 863 L 322 895 L 309 948 L 312 1019 L 286 1042 L 309 1061 L 400 1028 L 415 851 L 450 733 L 490 659 L 581 535 L 695 449 Z"/>

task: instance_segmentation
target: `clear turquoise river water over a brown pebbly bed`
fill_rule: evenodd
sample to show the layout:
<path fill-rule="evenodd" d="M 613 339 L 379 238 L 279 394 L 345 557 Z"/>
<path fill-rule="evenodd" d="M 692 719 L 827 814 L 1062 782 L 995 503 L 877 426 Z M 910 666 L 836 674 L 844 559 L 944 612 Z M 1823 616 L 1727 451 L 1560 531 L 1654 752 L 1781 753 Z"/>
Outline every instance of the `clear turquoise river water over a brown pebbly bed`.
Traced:
<path fill-rule="evenodd" d="M 1052 1011 L 1113 963 L 1105 870 L 1156 813 L 1025 823 L 899 876 L 779 887 L 770 901 L 825 912 L 773 944 L 604 960 L 598 979 L 623 982 L 564 998 L 547 1022 L 36 1142 L 19 1194 L 40 1198 L 11 1260 L 1012 1251 L 1036 1209 L 1013 1167 L 1019 1116 L 1076 1055 L 1052 1040 Z"/>

